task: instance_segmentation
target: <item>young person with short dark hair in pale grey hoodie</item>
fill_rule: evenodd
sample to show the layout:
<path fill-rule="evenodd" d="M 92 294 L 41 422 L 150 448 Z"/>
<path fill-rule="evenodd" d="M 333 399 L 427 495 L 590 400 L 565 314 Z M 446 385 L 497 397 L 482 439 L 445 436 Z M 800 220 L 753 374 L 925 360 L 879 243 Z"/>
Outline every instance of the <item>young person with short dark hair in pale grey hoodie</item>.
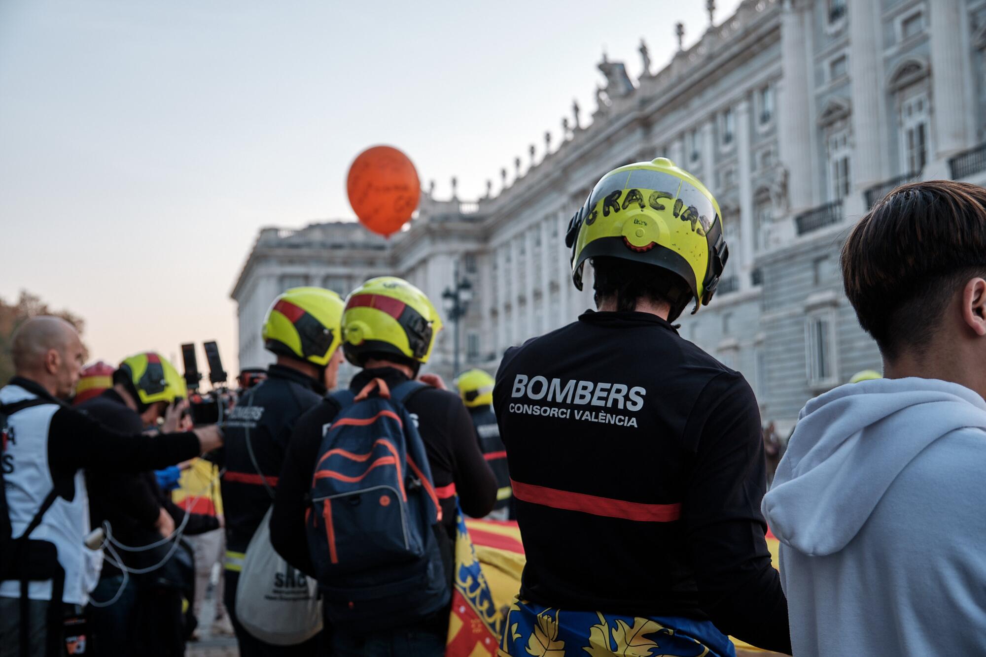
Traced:
<path fill-rule="evenodd" d="M 795 657 L 986 651 L 986 189 L 897 187 L 842 249 L 885 378 L 802 410 L 764 516 Z"/>

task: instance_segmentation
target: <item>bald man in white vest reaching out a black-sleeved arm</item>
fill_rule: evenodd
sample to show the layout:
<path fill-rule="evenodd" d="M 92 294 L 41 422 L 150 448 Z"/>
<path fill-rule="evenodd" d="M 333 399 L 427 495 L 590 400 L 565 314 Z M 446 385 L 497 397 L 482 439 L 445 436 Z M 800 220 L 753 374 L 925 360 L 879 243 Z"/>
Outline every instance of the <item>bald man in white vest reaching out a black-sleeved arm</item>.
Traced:
<path fill-rule="evenodd" d="M 216 449 L 222 434 L 200 427 L 130 435 L 66 406 L 61 400 L 75 387 L 85 350 L 75 328 L 58 317 L 22 324 L 12 352 L 16 374 L 0 388 L 0 490 L 16 540 L 0 555 L 0 657 L 62 654 L 62 619 L 86 603 L 102 564 L 102 553 L 83 543 L 90 526 L 82 470 L 164 468 Z M 3 524 L 0 518 L 0 531 Z"/>

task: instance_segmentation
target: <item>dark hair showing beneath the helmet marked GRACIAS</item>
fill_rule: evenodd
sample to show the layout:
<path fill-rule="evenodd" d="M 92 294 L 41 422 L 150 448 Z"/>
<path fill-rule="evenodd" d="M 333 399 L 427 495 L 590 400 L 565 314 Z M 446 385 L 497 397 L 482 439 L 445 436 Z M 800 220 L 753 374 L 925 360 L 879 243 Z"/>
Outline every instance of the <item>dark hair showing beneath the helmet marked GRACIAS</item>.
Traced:
<path fill-rule="evenodd" d="M 593 258 L 592 264 L 597 306 L 612 298 L 617 310 L 628 311 L 636 308 L 637 300 L 643 298 L 667 303 L 668 320 L 674 321 L 694 298 L 684 279 L 663 267 L 612 257 Z"/>

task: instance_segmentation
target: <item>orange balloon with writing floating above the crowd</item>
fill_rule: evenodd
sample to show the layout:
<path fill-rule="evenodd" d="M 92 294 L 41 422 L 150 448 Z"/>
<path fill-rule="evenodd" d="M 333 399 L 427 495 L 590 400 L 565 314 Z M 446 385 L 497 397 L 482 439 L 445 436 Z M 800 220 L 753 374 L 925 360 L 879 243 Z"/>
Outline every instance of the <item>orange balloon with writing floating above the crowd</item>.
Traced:
<path fill-rule="evenodd" d="M 374 146 L 349 166 L 346 193 L 363 226 L 389 235 L 400 230 L 417 209 L 421 181 L 403 153 L 390 146 Z"/>

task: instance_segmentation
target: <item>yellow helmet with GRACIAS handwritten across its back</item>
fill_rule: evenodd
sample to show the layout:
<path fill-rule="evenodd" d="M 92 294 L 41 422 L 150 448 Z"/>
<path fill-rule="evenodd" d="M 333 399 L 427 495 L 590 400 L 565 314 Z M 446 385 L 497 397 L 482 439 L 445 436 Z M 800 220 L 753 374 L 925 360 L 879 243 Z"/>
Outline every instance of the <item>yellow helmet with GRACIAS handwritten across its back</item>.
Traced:
<path fill-rule="evenodd" d="M 667 158 L 615 168 L 569 223 L 572 282 L 582 290 L 586 260 L 609 256 L 663 267 L 695 297 L 712 299 L 729 258 L 719 203 L 695 176 Z"/>

